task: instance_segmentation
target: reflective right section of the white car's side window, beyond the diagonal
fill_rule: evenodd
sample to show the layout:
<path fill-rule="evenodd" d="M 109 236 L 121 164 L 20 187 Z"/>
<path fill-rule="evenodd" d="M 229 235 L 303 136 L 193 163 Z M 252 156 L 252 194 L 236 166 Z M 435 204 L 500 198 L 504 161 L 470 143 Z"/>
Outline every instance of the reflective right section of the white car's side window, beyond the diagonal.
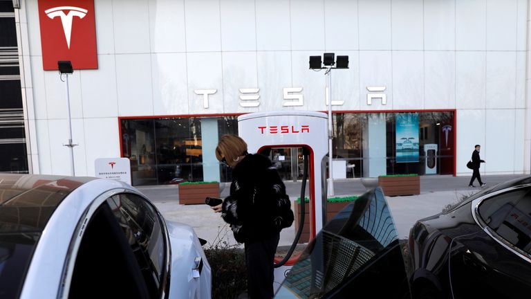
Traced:
<path fill-rule="evenodd" d="M 150 293 L 158 296 L 165 261 L 162 220 L 146 199 L 136 194 L 118 194 L 108 202 L 133 249 Z"/>

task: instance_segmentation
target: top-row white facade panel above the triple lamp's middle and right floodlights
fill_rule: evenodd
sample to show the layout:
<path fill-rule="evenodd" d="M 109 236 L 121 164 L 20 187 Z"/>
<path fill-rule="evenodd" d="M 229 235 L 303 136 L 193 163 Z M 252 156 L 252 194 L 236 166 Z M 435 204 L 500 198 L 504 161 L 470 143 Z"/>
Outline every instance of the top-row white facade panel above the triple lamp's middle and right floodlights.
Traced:
<path fill-rule="evenodd" d="M 357 50 L 357 0 L 324 1 L 325 47 Z"/>

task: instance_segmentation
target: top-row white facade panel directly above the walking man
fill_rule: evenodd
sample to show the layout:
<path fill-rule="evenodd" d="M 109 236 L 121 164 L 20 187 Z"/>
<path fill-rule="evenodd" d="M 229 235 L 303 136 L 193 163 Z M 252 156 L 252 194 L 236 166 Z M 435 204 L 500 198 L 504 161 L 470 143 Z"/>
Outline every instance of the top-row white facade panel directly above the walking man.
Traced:
<path fill-rule="evenodd" d="M 456 1 L 456 49 L 485 51 L 487 0 Z"/>

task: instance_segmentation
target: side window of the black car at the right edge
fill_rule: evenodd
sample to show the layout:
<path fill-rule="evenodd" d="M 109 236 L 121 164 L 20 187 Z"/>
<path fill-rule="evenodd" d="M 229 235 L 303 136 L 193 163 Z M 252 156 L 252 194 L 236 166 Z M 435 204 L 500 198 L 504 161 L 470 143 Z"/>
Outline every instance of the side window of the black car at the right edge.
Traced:
<path fill-rule="evenodd" d="M 520 188 L 485 199 L 478 213 L 496 234 L 531 253 L 531 188 Z"/>

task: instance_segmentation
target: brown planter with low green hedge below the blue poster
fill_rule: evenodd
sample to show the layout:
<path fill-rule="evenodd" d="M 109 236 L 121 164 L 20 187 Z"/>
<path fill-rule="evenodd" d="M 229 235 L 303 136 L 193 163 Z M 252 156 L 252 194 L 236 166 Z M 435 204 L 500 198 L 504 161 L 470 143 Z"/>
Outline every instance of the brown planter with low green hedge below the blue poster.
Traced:
<path fill-rule="evenodd" d="M 387 196 L 420 194 L 420 176 L 417 174 L 378 176 L 378 185 Z"/>

